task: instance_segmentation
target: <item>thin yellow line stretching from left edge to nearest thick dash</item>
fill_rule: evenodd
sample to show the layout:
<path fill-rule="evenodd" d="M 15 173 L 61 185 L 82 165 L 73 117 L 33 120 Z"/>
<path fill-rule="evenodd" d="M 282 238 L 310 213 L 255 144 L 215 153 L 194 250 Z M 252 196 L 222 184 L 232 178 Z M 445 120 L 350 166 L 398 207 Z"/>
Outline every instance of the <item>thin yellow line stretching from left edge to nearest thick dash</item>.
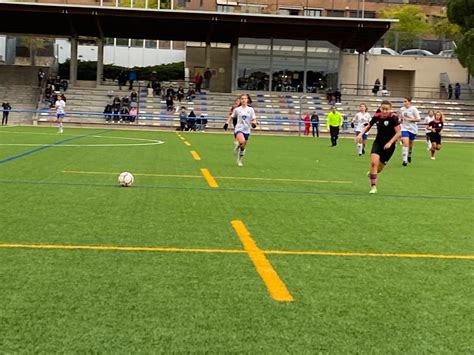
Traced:
<path fill-rule="evenodd" d="M 244 250 L 238 249 L 201 249 L 201 248 L 158 248 L 158 247 L 125 247 L 125 246 L 103 246 L 103 245 L 63 245 L 63 244 L 18 244 L 0 243 L 0 248 L 26 248 L 26 249 L 67 249 L 67 250 L 116 250 L 116 251 L 167 251 L 183 253 L 222 253 L 243 254 Z"/>

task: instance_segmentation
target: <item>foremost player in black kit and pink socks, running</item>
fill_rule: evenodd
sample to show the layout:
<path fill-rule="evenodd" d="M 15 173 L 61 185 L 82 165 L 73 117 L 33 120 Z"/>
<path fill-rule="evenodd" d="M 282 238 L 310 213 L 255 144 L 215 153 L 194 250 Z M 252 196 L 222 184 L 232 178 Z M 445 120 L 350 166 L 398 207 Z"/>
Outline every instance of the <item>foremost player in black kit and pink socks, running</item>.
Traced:
<path fill-rule="evenodd" d="M 391 112 L 392 104 L 390 101 L 382 101 L 380 113 L 375 114 L 369 124 L 365 126 L 356 137 L 356 142 L 361 143 L 364 134 L 366 134 L 373 125 L 377 124 L 377 136 L 375 137 L 372 151 L 370 154 L 370 191 L 377 193 L 377 174 L 382 172 L 385 165 L 393 155 L 398 138 L 400 137 L 400 124 L 398 117 Z"/>

